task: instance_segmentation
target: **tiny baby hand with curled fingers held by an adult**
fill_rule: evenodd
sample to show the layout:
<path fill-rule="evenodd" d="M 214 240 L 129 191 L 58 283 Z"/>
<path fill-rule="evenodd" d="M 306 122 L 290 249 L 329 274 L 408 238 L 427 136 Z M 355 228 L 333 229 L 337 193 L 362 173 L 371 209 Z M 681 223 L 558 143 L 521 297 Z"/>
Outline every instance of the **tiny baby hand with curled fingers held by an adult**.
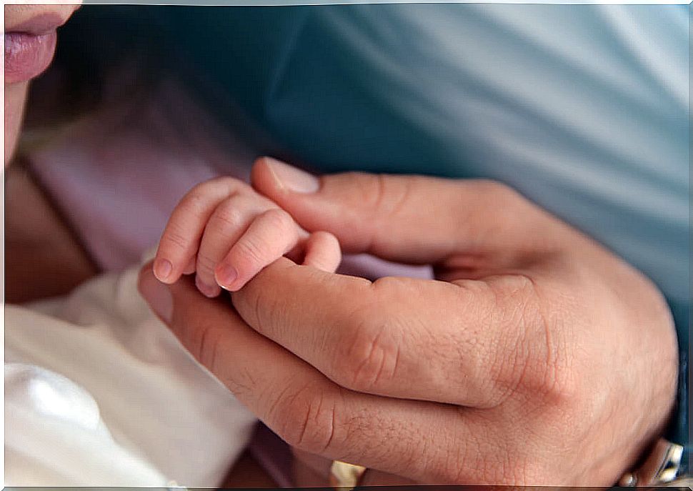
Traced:
<path fill-rule="evenodd" d="M 219 177 L 198 184 L 176 206 L 156 251 L 154 274 L 170 284 L 195 272 L 199 291 L 216 297 L 219 287 L 235 292 L 284 255 L 331 272 L 341 261 L 332 234 L 309 234 L 249 185 Z"/>

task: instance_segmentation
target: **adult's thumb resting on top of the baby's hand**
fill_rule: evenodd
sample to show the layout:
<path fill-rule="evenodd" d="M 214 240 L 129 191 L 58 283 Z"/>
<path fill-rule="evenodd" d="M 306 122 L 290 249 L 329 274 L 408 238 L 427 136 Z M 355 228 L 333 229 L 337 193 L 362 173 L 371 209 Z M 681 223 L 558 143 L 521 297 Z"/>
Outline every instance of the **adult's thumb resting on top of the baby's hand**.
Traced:
<path fill-rule="evenodd" d="M 512 249 L 536 230 L 537 207 L 485 180 L 349 172 L 316 177 L 262 157 L 254 188 L 316 232 L 331 232 L 344 252 L 430 264 L 455 253 Z"/>

